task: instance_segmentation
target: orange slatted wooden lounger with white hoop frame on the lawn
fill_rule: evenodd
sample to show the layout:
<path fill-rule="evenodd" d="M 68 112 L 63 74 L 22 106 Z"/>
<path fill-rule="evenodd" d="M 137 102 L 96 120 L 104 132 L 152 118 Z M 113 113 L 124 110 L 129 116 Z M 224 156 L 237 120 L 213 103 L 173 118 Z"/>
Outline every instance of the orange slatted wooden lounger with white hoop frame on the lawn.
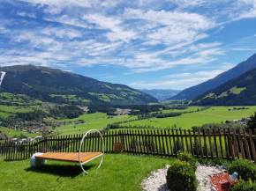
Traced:
<path fill-rule="evenodd" d="M 80 142 L 79 152 L 47 152 L 47 153 L 37 152 L 37 153 L 34 153 L 32 158 L 30 159 L 30 165 L 32 167 L 36 167 L 36 166 L 39 166 L 39 165 L 44 165 L 46 160 L 59 160 L 59 161 L 79 163 L 79 165 L 81 166 L 81 169 L 83 171 L 83 176 L 84 176 L 85 173 L 87 173 L 87 172 L 83 168 L 83 165 L 86 164 L 87 162 L 95 159 L 95 158 L 99 158 L 99 157 L 102 156 L 101 163 L 98 166 L 98 168 L 100 168 L 101 165 L 102 165 L 103 157 L 104 157 L 104 140 L 103 140 L 103 137 L 102 137 L 102 146 L 103 146 L 103 151 L 102 152 L 81 152 L 81 148 L 82 148 L 82 144 L 84 142 L 84 139 L 88 135 L 88 133 L 90 133 L 91 131 L 98 132 L 100 134 L 100 136 L 102 137 L 102 134 L 98 130 L 96 130 L 96 129 L 88 130 L 87 133 L 83 136 L 83 138 Z"/>

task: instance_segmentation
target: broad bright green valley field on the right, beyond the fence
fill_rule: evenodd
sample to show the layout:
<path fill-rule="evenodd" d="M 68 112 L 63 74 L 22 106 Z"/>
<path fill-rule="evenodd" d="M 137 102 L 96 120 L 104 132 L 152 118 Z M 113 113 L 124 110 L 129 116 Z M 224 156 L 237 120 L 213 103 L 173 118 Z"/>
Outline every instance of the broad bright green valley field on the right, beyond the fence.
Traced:
<path fill-rule="evenodd" d="M 176 124 L 177 128 L 181 127 L 182 129 L 191 129 L 192 126 L 201 126 L 206 123 L 221 123 L 226 120 L 238 120 L 243 117 L 249 117 L 251 114 L 256 112 L 256 107 L 254 106 L 249 107 L 249 109 L 234 111 L 228 111 L 229 108 L 233 107 L 210 107 L 209 109 L 201 112 L 182 114 L 177 117 L 151 118 L 147 120 L 127 122 L 121 125 L 150 125 L 158 128 L 169 128 Z"/>

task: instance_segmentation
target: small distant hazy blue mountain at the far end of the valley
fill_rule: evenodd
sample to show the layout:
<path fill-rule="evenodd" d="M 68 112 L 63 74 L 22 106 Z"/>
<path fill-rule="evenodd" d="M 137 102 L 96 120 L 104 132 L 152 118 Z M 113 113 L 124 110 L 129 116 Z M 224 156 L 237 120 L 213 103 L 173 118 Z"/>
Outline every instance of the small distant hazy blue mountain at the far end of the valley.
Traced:
<path fill-rule="evenodd" d="M 166 89 L 166 90 L 162 90 L 162 89 L 152 89 L 152 90 L 147 90 L 147 89 L 142 89 L 139 90 L 140 92 L 145 92 L 149 95 L 152 95 L 154 98 L 163 101 L 165 99 L 169 99 L 170 97 L 177 95 L 178 92 L 180 92 L 180 90 L 170 90 L 170 89 Z"/>

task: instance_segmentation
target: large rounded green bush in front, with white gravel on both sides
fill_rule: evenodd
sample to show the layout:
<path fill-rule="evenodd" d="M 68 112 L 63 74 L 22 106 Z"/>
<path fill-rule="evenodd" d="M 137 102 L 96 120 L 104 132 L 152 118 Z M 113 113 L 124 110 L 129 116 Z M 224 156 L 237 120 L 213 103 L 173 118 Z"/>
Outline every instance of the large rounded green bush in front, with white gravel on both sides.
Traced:
<path fill-rule="evenodd" d="M 171 191 L 196 191 L 198 185 L 192 166 L 180 160 L 169 166 L 166 182 Z"/>

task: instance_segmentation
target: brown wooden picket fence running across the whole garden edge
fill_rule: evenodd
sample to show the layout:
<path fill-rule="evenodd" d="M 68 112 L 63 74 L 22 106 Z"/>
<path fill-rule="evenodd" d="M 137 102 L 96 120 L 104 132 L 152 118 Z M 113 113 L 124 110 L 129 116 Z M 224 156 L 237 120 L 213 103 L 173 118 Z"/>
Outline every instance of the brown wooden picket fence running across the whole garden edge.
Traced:
<path fill-rule="evenodd" d="M 128 129 L 103 134 L 105 152 L 177 157 L 179 151 L 189 151 L 197 158 L 247 158 L 256 163 L 256 131 L 214 129 L 207 131 L 181 129 Z M 1 143 L 4 160 L 30 158 L 34 152 L 77 152 L 83 135 L 46 136 L 33 143 Z M 89 134 L 82 151 L 102 151 L 102 140 Z"/>

